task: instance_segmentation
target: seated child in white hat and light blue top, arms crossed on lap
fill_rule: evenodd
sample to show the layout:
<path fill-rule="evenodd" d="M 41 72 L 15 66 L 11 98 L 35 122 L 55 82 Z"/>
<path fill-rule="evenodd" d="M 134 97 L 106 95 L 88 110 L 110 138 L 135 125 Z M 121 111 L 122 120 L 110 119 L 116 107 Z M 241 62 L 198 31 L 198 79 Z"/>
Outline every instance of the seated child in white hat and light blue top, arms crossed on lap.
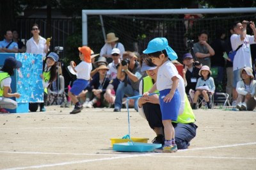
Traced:
<path fill-rule="evenodd" d="M 205 102 L 207 102 L 207 107 L 208 109 L 212 108 L 211 101 L 209 101 L 209 95 L 213 95 L 215 91 L 215 84 L 214 80 L 211 77 L 211 70 L 209 66 L 202 66 L 198 73 L 201 78 L 198 79 L 196 83 L 196 92 L 195 92 L 195 97 L 193 99 L 193 106 L 192 109 L 197 109 L 197 100 L 199 95 L 203 95 Z"/>

